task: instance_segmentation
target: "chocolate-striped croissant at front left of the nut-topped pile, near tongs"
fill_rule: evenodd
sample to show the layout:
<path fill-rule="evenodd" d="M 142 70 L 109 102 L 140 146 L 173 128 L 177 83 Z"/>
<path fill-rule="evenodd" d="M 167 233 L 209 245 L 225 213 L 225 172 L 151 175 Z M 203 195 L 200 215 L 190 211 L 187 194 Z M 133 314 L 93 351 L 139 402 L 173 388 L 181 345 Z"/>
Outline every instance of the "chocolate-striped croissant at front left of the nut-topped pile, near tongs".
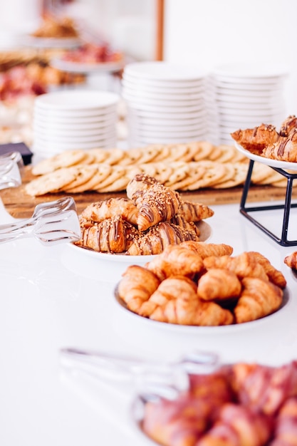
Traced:
<path fill-rule="evenodd" d="M 120 215 L 100 223 L 80 222 L 80 228 L 81 238 L 74 244 L 98 252 L 124 252 L 138 236 L 137 229 Z"/>

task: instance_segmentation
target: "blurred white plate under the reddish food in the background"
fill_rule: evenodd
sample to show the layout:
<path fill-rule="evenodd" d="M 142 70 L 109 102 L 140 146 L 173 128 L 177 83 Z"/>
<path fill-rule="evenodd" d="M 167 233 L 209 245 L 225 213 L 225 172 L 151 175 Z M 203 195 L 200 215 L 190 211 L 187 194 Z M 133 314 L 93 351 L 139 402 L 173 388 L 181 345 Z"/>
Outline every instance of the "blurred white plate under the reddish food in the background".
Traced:
<path fill-rule="evenodd" d="M 123 68 L 123 61 L 102 62 L 102 63 L 80 63 L 72 61 L 64 61 L 63 58 L 53 58 L 50 62 L 53 68 L 68 71 L 69 73 L 105 73 L 120 71 Z"/>

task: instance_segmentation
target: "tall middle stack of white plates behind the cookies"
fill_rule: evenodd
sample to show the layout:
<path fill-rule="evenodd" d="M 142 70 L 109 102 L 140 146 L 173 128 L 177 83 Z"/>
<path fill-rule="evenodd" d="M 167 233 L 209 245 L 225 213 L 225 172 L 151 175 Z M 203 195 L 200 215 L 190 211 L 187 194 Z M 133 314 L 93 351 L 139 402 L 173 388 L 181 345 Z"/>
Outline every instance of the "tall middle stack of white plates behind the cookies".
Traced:
<path fill-rule="evenodd" d="M 207 134 L 205 75 L 197 67 L 127 64 L 122 95 L 132 147 L 202 140 Z"/>

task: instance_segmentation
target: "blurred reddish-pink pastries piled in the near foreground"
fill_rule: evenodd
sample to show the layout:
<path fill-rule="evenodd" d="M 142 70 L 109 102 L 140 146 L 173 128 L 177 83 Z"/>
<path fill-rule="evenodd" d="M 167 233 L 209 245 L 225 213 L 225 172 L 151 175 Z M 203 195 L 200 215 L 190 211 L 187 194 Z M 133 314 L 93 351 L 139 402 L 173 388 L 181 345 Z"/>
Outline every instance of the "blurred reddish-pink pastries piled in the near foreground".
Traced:
<path fill-rule="evenodd" d="M 141 429 L 163 446 L 296 445 L 296 383 L 297 361 L 222 365 L 175 400 L 146 400 Z"/>

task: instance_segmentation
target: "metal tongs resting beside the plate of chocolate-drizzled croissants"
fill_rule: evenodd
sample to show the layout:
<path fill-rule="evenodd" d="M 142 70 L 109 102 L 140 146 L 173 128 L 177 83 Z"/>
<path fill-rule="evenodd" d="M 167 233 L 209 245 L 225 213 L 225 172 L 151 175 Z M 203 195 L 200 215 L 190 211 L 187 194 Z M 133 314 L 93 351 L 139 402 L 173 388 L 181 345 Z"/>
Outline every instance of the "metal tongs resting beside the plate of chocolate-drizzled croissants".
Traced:
<path fill-rule="evenodd" d="M 80 223 L 72 197 L 38 204 L 29 219 L 0 225 L 0 243 L 36 237 L 46 246 L 80 239 Z"/>

